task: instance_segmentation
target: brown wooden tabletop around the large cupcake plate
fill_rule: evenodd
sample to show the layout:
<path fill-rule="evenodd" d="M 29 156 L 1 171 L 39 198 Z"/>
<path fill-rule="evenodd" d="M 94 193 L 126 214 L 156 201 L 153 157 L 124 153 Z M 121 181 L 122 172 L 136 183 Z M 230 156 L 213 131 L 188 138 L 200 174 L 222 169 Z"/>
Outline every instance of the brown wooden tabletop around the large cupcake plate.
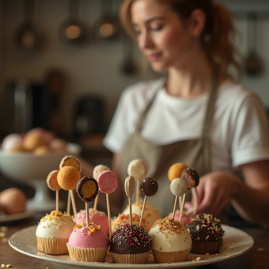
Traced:
<path fill-rule="evenodd" d="M 36 224 L 36 221 L 28 220 L 23 224 L 16 224 L 8 227 L 5 232 L 5 238 L 8 238 L 14 232 L 30 225 Z M 217 264 L 206 265 L 201 268 L 208 269 L 268 269 L 269 268 L 269 231 L 261 229 L 242 229 L 250 234 L 255 241 L 254 247 L 246 254 L 240 257 L 224 261 Z M 0 234 L 3 236 L 3 234 Z M 5 240 L 4 240 L 5 241 Z M 23 255 L 13 250 L 8 242 L 3 242 L 0 238 L 0 265 L 11 264 L 14 269 L 56 269 L 52 264 Z M 1 268 L 1 267 L 0 267 Z M 124 268 L 124 267 L 122 267 Z M 1 268 L 2 269 L 2 268 Z"/>

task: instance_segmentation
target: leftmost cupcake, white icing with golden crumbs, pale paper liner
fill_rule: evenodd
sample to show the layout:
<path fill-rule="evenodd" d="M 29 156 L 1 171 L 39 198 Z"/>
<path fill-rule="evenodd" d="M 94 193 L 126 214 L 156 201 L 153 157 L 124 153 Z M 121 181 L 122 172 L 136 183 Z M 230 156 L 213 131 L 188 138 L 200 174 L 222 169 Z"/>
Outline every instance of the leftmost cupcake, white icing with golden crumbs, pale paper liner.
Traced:
<path fill-rule="evenodd" d="M 37 249 L 45 254 L 68 254 L 66 243 L 75 223 L 69 214 L 52 211 L 46 214 L 36 228 Z"/>

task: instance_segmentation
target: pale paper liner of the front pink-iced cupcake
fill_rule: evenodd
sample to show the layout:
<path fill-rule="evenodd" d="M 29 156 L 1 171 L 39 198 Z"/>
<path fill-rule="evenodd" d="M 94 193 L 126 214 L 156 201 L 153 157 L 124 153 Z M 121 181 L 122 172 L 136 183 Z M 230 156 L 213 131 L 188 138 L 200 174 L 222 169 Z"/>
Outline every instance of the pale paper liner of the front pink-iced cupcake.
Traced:
<path fill-rule="evenodd" d="M 71 260 L 105 262 L 108 247 L 80 248 L 66 244 Z"/>

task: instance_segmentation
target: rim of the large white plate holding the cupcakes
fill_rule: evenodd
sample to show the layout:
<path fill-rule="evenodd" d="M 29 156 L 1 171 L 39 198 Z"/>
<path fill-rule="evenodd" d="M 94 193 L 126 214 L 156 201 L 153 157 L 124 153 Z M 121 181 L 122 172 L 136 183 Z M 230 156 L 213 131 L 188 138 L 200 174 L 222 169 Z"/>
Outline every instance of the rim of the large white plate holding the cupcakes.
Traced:
<path fill-rule="evenodd" d="M 243 254 L 245 254 L 247 251 L 251 250 L 251 248 L 254 246 L 254 239 L 251 235 L 249 235 L 247 232 L 239 229 L 239 228 L 236 228 L 236 227 L 233 227 L 233 226 L 229 226 L 229 225 L 225 225 L 225 224 L 222 224 L 223 227 L 229 227 L 229 228 L 233 228 L 233 229 L 236 229 L 236 230 L 240 230 L 240 232 L 244 233 L 245 235 L 247 235 L 249 237 L 249 239 L 252 240 L 252 244 L 250 247 L 248 247 L 246 250 L 240 252 L 240 253 L 237 253 L 237 254 L 231 254 L 229 256 L 224 256 L 224 257 L 219 257 L 217 260 L 210 260 L 210 258 L 208 259 L 203 259 L 203 260 L 200 260 L 200 261 L 187 261 L 188 264 L 185 264 L 185 262 L 179 262 L 179 263 L 163 263 L 163 264 L 124 264 L 124 267 L 125 268 L 129 268 L 129 269 L 136 269 L 136 268 L 140 268 L 140 269 L 147 269 L 147 268 L 180 268 L 181 266 L 180 265 L 183 265 L 184 263 L 184 268 L 185 267 L 195 267 L 195 266 L 204 266 L 204 265 L 207 265 L 207 264 L 214 264 L 214 263 L 218 263 L 218 262 L 222 262 L 222 261 L 227 261 L 227 260 L 230 260 L 232 258 L 235 258 L 235 257 L 239 257 Z M 38 256 L 36 254 L 32 254 L 32 253 L 29 253 L 27 251 L 23 251 L 22 249 L 18 248 L 18 247 L 15 247 L 13 244 L 12 244 L 12 239 L 19 233 L 19 232 L 22 232 L 23 230 L 28 230 L 28 229 L 33 229 L 34 227 L 37 227 L 37 225 L 32 225 L 32 226 L 28 226 L 28 227 L 25 227 L 21 230 L 18 230 L 16 231 L 15 233 L 13 233 L 9 239 L 8 239 L 8 244 L 10 245 L 10 247 L 12 247 L 15 251 L 18 251 L 19 253 L 22 253 L 24 255 L 27 255 L 29 257 L 33 257 L 33 258 L 36 258 L 36 259 L 39 259 L 39 260 L 44 260 L 44 261 L 48 261 L 50 263 L 53 263 L 53 264 L 69 264 L 69 265 L 74 265 L 74 266 L 77 266 L 77 267 L 89 267 L 91 268 L 91 265 L 93 265 L 93 268 L 115 268 L 115 267 L 112 267 L 111 264 L 113 263 L 99 263 L 99 262 L 86 262 L 86 261 L 72 261 L 72 260 L 66 260 L 66 259 L 59 259 L 59 257 L 55 258 L 53 255 L 51 255 L 51 257 L 44 257 L 44 256 Z M 197 254 L 198 255 L 198 254 Z M 191 262 L 191 263 L 190 263 Z M 115 265 L 119 265 L 119 264 L 113 264 L 114 266 Z M 183 267 L 181 267 L 183 268 Z"/>

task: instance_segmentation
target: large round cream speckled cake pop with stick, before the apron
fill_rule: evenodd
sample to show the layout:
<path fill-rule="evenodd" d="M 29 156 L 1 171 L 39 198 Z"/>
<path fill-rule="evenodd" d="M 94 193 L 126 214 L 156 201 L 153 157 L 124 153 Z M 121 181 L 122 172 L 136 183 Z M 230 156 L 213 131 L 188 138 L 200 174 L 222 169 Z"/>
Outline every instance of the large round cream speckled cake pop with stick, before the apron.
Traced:
<path fill-rule="evenodd" d="M 128 167 L 127 173 L 136 180 L 136 204 L 139 204 L 139 181 L 146 177 L 148 167 L 142 159 L 132 160 Z"/>

